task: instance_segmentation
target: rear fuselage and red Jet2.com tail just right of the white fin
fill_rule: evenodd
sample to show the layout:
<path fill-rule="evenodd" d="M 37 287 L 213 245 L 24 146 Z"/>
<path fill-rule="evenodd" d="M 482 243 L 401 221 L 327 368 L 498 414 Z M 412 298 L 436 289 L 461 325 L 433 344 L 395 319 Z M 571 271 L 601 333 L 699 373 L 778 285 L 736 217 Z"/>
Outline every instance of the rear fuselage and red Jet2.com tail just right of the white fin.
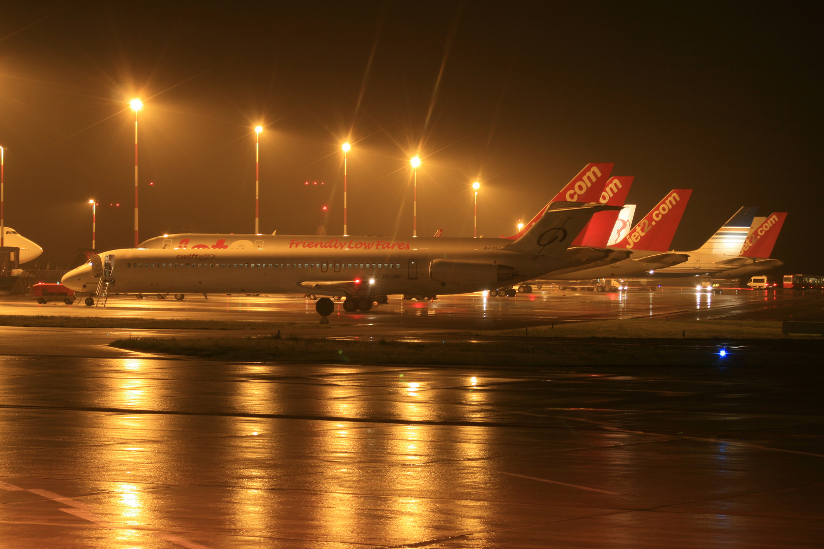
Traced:
<path fill-rule="evenodd" d="M 570 268 L 549 273 L 542 278 L 589 280 L 628 277 L 685 262 L 689 258 L 687 255 L 667 252 L 667 249 L 672 243 L 672 237 L 681 222 L 681 216 L 691 194 L 692 189 L 689 188 L 676 188 L 667 193 L 622 240 L 610 246 L 616 250 L 615 255 L 593 262 L 583 269 Z M 608 238 L 608 235 L 602 235 L 602 238 Z"/>

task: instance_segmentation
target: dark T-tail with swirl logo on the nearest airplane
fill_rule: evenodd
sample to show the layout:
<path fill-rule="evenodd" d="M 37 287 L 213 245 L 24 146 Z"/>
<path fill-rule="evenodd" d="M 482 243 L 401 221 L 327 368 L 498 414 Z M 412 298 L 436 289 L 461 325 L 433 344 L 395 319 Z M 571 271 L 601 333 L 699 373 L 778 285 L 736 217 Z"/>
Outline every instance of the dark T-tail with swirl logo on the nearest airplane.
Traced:
<path fill-rule="evenodd" d="M 532 256 L 563 258 L 567 248 L 597 212 L 620 210 L 618 206 L 553 202 L 521 238 L 503 249 Z"/>

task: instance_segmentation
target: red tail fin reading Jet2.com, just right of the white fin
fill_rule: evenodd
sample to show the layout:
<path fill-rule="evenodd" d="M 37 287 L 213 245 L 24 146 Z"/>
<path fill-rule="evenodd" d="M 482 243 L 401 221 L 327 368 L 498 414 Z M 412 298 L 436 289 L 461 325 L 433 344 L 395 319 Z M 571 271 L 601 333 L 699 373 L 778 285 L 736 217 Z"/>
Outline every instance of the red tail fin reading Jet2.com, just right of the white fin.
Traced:
<path fill-rule="evenodd" d="M 691 188 L 677 188 L 667 193 L 615 247 L 666 252 L 672 244 L 672 237 L 675 236 L 691 194 Z"/>

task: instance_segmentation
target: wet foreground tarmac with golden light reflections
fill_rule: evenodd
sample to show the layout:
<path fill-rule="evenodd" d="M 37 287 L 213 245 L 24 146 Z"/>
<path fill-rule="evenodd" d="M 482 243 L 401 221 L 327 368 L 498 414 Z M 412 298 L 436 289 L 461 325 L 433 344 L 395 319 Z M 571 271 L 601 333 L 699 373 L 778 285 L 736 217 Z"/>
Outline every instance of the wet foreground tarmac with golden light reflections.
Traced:
<path fill-rule="evenodd" d="M 821 547 L 817 366 L 2 358 L 2 547 Z"/>

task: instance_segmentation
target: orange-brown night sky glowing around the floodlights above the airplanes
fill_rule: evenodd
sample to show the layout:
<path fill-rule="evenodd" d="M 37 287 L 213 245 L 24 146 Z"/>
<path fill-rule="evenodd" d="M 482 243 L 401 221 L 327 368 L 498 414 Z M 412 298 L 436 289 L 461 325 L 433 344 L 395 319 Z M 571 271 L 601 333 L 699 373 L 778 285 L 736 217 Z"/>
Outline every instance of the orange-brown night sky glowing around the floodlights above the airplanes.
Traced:
<path fill-rule="evenodd" d="M 636 219 L 694 188 L 673 248 L 738 207 L 789 212 L 784 272 L 824 272 L 820 4 L 16 2 L 0 19 L 6 223 L 68 263 L 171 232 L 511 234 L 588 162 Z M 318 185 L 305 185 L 317 181 Z M 150 185 L 150 182 L 153 185 Z M 324 185 L 320 185 L 323 182 Z M 110 207 L 110 203 L 120 203 Z"/>

